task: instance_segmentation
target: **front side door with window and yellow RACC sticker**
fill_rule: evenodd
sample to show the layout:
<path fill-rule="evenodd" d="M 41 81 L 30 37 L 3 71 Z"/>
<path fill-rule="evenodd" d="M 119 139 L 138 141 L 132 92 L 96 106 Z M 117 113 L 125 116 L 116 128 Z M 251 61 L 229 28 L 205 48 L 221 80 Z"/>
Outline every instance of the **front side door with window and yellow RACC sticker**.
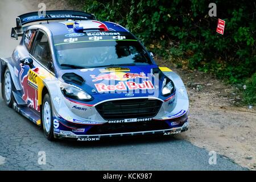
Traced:
<path fill-rule="evenodd" d="M 24 41 L 26 46 L 26 40 Z M 29 55 L 33 60 L 33 64 L 22 65 L 23 72 L 20 72 L 23 87 L 22 99 L 27 102 L 28 107 L 40 112 L 39 106 L 42 102 L 40 93 L 42 93 L 43 89 L 42 78 L 53 71 L 52 55 L 47 34 L 42 30 L 37 30 L 32 43 L 26 47 L 30 52 Z"/>

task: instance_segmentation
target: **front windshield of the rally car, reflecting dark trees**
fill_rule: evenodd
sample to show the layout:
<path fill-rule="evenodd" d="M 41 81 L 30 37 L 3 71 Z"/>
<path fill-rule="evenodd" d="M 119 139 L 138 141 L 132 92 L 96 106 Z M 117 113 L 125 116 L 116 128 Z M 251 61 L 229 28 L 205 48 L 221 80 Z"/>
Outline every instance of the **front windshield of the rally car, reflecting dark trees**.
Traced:
<path fill-rule="evenodd" d="M 63 69 L 152 64 L 137 40 L 67 40 L 55 44 L 57 61 Z"/>

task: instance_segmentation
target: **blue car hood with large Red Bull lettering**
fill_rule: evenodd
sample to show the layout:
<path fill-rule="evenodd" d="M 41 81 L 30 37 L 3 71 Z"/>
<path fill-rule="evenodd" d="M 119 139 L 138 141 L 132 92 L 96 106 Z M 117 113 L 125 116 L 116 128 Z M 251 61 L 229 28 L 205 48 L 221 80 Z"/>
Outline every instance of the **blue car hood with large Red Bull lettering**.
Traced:
<path fill-rule="evenodd" d="M 157 65 L 63 69 L 58 73 L 59 80 L 79 86 L 94 98 L 102 96 L 104 100 L 157 97 L 159 90 L 162 90 L 159 88 L 162 88 L 163 77 Z"/>

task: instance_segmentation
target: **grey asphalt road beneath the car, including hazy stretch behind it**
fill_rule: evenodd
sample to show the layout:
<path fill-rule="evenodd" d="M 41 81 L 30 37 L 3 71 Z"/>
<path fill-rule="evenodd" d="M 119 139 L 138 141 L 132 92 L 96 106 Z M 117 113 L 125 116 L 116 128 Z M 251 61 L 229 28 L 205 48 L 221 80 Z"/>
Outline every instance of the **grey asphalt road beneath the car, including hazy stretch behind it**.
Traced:
<path fill-rule="evenodd" d="M 0 2 L 1 57 L 10 56 L 18 44 L 9 38 L 15 16 L 32 10 L 24 1 L 15 2 Z M 38 163 L 40 151 L 46 154 L 46 164 Z M 244 169 L 220 155 L 217 155 L 217 164 L 210 165 L 208 154 L 203 148 L 172 137 L 49 142 L 36 125 L 7 107 L 0 98 L 0 170 Z"/>

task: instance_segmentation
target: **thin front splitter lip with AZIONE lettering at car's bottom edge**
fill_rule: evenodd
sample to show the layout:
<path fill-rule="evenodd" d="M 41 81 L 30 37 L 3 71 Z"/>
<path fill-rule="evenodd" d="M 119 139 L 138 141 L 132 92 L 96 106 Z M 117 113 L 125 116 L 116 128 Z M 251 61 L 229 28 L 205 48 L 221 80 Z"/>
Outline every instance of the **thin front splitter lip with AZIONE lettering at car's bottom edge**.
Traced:
<path fill-rule="evenodd" d="M 93 135 L 90 135 L 90 134 L 79 135 L 79 134 L 73 133 L 72 131 L 58 130 L 58 132 L 54 132 L 54 135 L 55 135 L 55 138 L 58 138 L 58 139 L 70 139 L 70 140 L 78 140 L 78 141 L 96 141 L 96 140 L 100 140 L 101 138 L 129 137 L 134 135 L 153 135 L 153 134 L 174 135 L 187 130 L 188 130 L 188 121 L 184 122 L 182 126 L 173 127 L 171 129 L 163 129 L 163 130 L 135 131 L 135 132 L 127 132 L 127 133 L 109 133 L 109 134 L 93 134 Z"/>

